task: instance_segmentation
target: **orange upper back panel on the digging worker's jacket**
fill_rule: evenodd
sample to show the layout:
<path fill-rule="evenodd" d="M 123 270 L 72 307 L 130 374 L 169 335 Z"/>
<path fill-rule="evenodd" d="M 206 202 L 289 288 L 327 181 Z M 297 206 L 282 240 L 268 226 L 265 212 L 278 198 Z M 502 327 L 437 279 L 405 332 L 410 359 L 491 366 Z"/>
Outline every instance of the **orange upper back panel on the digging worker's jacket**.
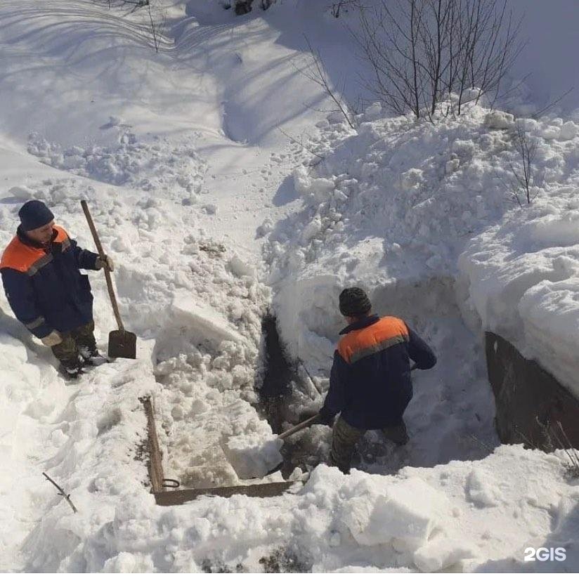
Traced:
<path fill-rule="evenodd" d="M 405 323 L 400 318 L 384 316 L 370 326 L 346 334 L 338 343 L 338 352 L 352 364 L 404 341 L 408 341 Z"/>

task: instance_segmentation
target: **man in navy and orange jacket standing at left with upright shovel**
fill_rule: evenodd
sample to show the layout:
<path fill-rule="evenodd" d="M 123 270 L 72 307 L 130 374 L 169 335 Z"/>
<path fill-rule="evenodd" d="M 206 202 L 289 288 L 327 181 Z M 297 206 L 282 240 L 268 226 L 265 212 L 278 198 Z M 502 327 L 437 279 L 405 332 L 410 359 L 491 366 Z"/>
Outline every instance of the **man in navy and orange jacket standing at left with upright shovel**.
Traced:
<path fill-rule="evenodd" d="M 112 270 L 108 256 L 77 246 L 54 224 L 51 210 L 39 200 L 26 202 L 20 225 L 0 261 L 4 292 L 14 315 L 52 348 L 66 377 L 77 377 L 82 365 L 106 361 L 93 335 L 93 295 L 84 270 Z"/>

